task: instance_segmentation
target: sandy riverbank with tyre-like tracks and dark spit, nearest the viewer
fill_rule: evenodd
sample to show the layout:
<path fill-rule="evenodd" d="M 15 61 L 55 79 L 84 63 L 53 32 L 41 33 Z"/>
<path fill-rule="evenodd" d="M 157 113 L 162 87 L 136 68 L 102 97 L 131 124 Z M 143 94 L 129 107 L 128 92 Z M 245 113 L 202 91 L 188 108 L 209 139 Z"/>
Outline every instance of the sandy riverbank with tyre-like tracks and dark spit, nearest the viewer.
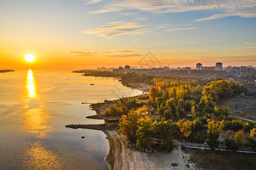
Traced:
<path fill-rule="evenodd" d="M 122 134 L 117 134 L 118 128 L 108 124 L 100 125 L 67 125 L 67 128 L 82 128 L 102 130 L 109 141 L 109 151 L 106 162 L 110 169 L 170 169 L 171 163 L 178 164 L 175 169 L 184 169 L 181 151 L 176 147 L 171 152 L 145 153 L 134 151 L 127 147 L 127 141 Z"/>

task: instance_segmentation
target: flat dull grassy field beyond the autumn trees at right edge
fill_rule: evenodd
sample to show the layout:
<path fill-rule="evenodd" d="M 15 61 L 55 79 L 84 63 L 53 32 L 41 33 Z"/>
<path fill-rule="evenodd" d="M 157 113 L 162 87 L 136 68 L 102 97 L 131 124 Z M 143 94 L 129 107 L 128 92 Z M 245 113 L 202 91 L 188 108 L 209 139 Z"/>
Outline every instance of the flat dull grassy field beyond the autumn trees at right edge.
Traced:
<path fill-rule="evenodd" d="M 231 113 L 233 113 L 233 111 L 238 111 L 238 108 L 242 108 L 242 114 L 234 114 L 237 114 L 237 116 L 256 120 L 256 100 L 254 96 L 236 96 L 228 99 L 223 99 L 218 101 L 217 105 L 228 106 Z"/>

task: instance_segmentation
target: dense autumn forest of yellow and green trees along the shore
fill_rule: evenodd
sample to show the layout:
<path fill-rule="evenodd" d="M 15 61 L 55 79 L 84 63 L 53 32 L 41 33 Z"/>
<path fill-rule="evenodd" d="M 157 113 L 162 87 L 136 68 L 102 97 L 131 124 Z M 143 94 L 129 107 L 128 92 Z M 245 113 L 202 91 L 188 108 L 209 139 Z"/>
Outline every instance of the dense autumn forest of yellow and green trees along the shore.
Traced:
<path fill-rule="evenodd" d="M 243 84 L 224 78 L 134 73 L 123 75 L 122 79 L 152 85 L 148 96 L 143 96 L 150 100 L 137 103 L 135 97 L 122 97 L 104 113 L 122 116 L 118 133 L 139 148 L 160 147 L 171 151 L 176 139 L 193 143 L 206 141 L 214 149 L 221 135 L 228 150 L 249 146 L 256 151 L 256 123 L 229 117 L 228 107 L 216 105 L 220 99 L 246 94 Z"/>

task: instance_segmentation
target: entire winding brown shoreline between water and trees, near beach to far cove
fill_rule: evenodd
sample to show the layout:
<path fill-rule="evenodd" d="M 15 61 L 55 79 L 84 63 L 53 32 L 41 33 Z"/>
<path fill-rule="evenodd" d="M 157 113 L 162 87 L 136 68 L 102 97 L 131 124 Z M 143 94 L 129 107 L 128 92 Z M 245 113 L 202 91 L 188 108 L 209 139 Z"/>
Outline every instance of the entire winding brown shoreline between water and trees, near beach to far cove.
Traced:
<path fill-rule="evenodd" d="M 123 84 L 131 88 L 136 88 L 142 91 L 141 95 L 148 94 L 150 84 L 146 83 L 127 83 Z M 133 96 L 138 97 L 141 95 Z M 137 99 L 138 101 L 142 101 Z M 104 103 L 90 104 L 90 108 L 96 112 L 93 116 L 86 118 L 103 119 L 106 121 L 117 121 L 121 116 L 105 117 L 103 116 L 106 109 L 114 105 L 112 101 L 105 101 Z M 178 166 L 175 169 L 184 169 L 183 159 L 180 147 L 174 148 L 171 152 L 141 152 L 135 151 L 128 147 L 128 142 L 122 134 L 118 134 L 118 124 L 94 124 L 94 125 L 67 125 L 66 128 L 73 129 L 92 129 L 101 130 L 106 135 L 106 139 L 109 142 L 109 150 L 105 156 L 105 161 L 109 165 L 109 169 L 170 169 L 171 163 L 177 163 Z"/>

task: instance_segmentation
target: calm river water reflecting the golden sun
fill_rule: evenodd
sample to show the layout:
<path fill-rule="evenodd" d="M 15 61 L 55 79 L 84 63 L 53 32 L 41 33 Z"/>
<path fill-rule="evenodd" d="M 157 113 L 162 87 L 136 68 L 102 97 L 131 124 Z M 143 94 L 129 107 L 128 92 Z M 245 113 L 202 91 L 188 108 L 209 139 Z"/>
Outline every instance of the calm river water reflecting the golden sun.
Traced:
<path fill-rule="evenodd" d="M 109 169 L 105 134 L 65 125 L 104 122 L 85 118 L 95 112 L 81 102 L 139 94 L 117 79 L 68 71 L 0 73 L 0 169 Z"/>

